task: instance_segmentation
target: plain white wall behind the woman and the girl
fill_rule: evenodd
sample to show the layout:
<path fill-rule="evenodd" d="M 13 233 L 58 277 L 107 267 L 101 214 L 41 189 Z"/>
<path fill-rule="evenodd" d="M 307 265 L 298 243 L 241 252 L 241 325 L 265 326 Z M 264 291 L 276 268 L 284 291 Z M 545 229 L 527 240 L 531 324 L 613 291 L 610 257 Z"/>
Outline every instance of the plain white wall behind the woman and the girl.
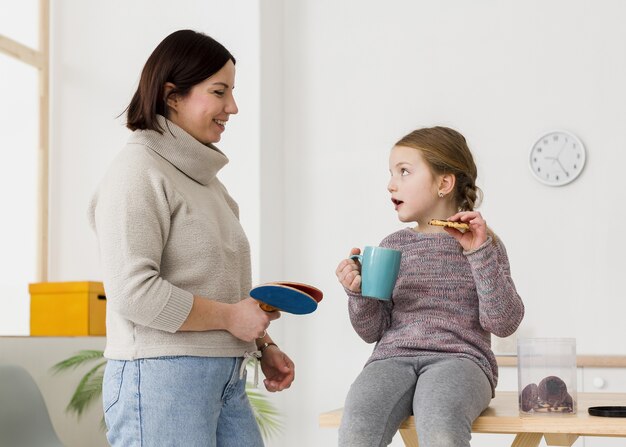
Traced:
<path fill-rule="evenodd" d="M 315 314 L 273 325 L 297 380 L 277 396 L 286 429 L 272 445 L 336 443 L 317 415 L 343 405 L 371 346 L 350 327 L 334 269 L 350 247 L 403 226 L 385 190 L 387 156 L 416 127 L 456 127 L 474 151 L 481 210 L 526 304 L 518 336 L 624 353 L 624 243 L 618 224 L 597 222 L 626 221 L 623 2 L 65 0 L 52 12 L 51 280 L 100 276 L 85 209 L 126 139 L 115 117 L 156 43 L 194 28 L 238 58 L 240 115 L 220 143 L 231 158 L 222 178 L 242 209 L 255 279 L 325 292 Z M 553 128 L 588 149 L 585 171 L 563 188 L 536 182 L 526 162 Z"/>

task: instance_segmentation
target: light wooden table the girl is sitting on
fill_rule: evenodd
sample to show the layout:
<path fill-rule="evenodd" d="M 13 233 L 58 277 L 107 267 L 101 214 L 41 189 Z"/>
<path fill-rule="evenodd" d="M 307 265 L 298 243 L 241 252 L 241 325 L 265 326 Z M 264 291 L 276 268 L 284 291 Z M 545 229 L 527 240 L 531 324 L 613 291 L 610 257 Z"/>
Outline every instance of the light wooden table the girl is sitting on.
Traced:
<path fill-rule="evenodd" d="M 547 445 L 571 446 L 579 436 L 626 438 L 626 419 L 590 416 L 589 407 L 626 405 L 626 393 L 578 393 L 578 411 L 570 415 L 520 416 L 517 393 L 501 391 L 474 421 L 474 433 L 515 434 L 511 447 L 537 447 L 542 438 Z M 343 409 L 320 414 L 322 428 L 339 427 Z M 418 447 L 415 423 L 411 416 L 400 426 L 408 447 Z"/>

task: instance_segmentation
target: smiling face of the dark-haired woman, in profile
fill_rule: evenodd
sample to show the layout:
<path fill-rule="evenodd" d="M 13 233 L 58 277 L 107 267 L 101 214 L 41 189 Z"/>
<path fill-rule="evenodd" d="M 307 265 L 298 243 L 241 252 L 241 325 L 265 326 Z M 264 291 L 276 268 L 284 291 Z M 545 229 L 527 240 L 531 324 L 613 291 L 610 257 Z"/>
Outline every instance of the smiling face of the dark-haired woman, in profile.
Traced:
<path fill-rule="evenodd" d="M 233 96 L 235 64 L 229 60 L 220 71 L 194 85 L 187 96 L 168 99 L 168 118 L 201 143 L 217 143 L 230 115 L 236 114 Z"/>

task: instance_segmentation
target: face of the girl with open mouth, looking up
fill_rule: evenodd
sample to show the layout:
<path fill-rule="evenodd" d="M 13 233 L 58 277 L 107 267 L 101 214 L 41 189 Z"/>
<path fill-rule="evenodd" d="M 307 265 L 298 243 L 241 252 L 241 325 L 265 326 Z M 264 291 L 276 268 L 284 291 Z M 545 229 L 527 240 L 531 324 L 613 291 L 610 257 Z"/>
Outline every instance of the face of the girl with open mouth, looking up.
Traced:
<path fill-rule="evenodd" d="M 446 200 L 438 196 L 441 176 L 433 175 L 421 151 L 395 146 L 389 156 L 391 179 L 387 186 L 391 201 L 401 222 L 417 222 L 420 230 L 428 228 L 430 219 L 444 219 L 448 213 Z"/>

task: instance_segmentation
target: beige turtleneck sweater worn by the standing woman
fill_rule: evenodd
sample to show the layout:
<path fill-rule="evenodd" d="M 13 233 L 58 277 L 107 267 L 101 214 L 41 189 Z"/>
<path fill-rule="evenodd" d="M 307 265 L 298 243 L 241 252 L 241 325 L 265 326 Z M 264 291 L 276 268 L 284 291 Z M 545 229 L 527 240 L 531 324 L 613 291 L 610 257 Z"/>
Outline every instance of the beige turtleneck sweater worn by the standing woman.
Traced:
<path fill-rule="evenodd" d="M 250 247 L 216 177 L 228 158 L 158 118 L 163 135 L 133 132 L 89 207 L 107 297 L 104 355 L 242 356 L 254 343 L 227 331 L 177 332 L 194 295 L 249 296 Z"/>

